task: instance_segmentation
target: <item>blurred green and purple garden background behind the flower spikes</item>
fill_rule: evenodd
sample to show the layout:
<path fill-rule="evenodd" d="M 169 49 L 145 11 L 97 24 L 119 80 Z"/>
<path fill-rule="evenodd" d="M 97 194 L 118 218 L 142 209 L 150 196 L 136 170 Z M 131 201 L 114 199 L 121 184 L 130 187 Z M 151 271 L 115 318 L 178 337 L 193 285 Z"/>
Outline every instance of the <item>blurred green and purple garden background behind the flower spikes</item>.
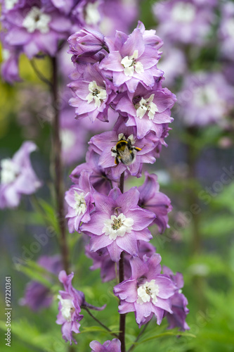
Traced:
<path fill-rule="evenodd" d="M 110 8 L 113 6 L 111 1 L 104 2 Z M 135 351 L 234 351 L 234 2 L 122 3 L 128 6 L 131 3 L 131 20 L 126 23 L 122 15 L 122 21 L 119 17 L 114 21 L 111 11 L 109 14 L 107 11 L 101 30 L 105 34 L 115 29 L 131 32 L 137 20 L 143 21 L 146 29 L 156 29 L 164 41 L 159 65 L 165 72 L 164 87 L 177 96 L 168 146 L 162 148 L 157 162 L 145 170 L 157 174 L 160 190 L 169 196 L 173 206 L 169 213 L 170 228 L 158 234 L 157 228 L 152 227 L 152 244 L 161 254 L 163 265 L 183 273 L 183 294 L 188 298 L 190 309 L 186 319 L 190 335 L 175 337 L 169 332 L 160 336 L 167 329 L 167 322 L 162 322 L 160 327 L 151 322 L 142 337 L 146 341 L 136 346 Z M 65 188 L 68 189 L 68 175 L 84 162 L 90 137 L 110 130 L 111 126 L 74 120 L 74 110 L 68 105 L 70 92 L 66 88 L 72 64 L 66 50 L 60 53 L 59 65 L 60 126 Z M 3 60 L 3 50 L 1 56 Z M 45 77 L 50 77 L 48 58 L 36 59 L 35 63 Z M 49 308 L 34 312 L 22 300 L 30 279 L 41 282 L 45 274 L 34 262 L 41 256 L 56 255 L 59 248 L 56 236 L 43 245 L 37 241 L 37 236 L 44 234 L 48 226 L 56 227 L 50 170 L 53 109 L 46 84 L 39 80 L 23 55 L 20 56 L 20 77 L 22 81 L 15 84 L 0 81 L 0 158 L 13 156 L 25 139 L 34 141 L 38 149 L 31 161 L 43 187 L 36 196 L 23 197 L 18 208 L 1 210 L 0 306 L 4 307 L 5 276 L 11 276 L 11 351 L 68 351 L 60 326 L 55 323 L 58 302 L 55 300 Z M 143 179 L 131 177 L 126 187 L 142 183 Z M 69 234 L 68 237 L 72 269 L 76 273 L 74 287 L 84 291 L 86 301 L 93 305 L 107 303 L 108 310 L 97 316 L 111 329 L 118 329 L 118 301 L 112 294 L 113 282 L 100 284 L 99 270 L 89 270 L 92 262 L 84 255 L 81 236 Z M 22 258 L 27 258 L 27 268 L 18 265 Z M 52 294 L 56 296 L 58 282 L 53 275 L 49 278 L 54 282 Z M 4 309 L 0 319 L 1 351 L 7 351 Z M 78 345 L 70 351 L 90 351 L 87 341 L 110 338 L 103 330 L 92 328 L 93 325 L 84 313 Z M 138 327 L 130 313 L 128 346 L 137 334 Z"/>

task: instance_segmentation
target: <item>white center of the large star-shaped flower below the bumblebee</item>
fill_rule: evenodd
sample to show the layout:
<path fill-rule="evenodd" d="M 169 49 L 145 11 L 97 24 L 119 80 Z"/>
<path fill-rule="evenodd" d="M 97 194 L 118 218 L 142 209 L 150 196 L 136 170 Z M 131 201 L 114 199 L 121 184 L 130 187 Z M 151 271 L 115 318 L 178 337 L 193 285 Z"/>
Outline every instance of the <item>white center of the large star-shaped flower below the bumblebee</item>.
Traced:
<path fill-rule="evenodd" d="M 130 233 L 133 225 L 134 220 L 126 218 L 123 213 L 118 216 L 111 215 L 110 219 L 105 220 L 102 232 L 110 239 L 116 239 L 117 236 L 124 237 L 126 232 Z"/>

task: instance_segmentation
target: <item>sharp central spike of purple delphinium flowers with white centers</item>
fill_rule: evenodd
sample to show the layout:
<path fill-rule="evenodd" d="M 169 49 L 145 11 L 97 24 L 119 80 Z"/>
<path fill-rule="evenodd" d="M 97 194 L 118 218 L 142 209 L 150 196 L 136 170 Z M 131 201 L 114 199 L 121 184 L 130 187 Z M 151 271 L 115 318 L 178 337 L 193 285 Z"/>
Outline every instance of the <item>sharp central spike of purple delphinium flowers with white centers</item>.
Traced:
<path fill-rule="evenodd" d="M 86 256 L 93 260 L 91 270 L 100 268 L 103 282 L 115 279 L 119 260 L 124 263 L 124 281 L 114 288 L 120 314 L 135 312 L 139 327 L 153 315 L 157 324 L 166 315 L 175 314 L 176 320 L 174 297 L 181 286 L 160 273 L 161 257 L 148 243 L 150 225 L 156 224 L 160 233 L 169 226 L 171 201 L 160 192 L 157 175 L 148 172 L 140 187 L 123 190 L 124 180 L 141 177 L 143 164 L 155 163 L 167 145 L 176 97 L 162 88 L 164 73 L 157 68 L 162 39 L 138 22 L 130 35 L 117 31 L 115 37 L 105 37 L 83 28 L 68 42 L 74 63 L 70 105 L 76 118 L 115 120 L 111 131 L 91 138 L 86 163 L 70 175 L 73 184 L 65 194 L 69 231 L 90 237 Z M 177 326 L 186 329 L 183 303 Z M 92 341 L 90 346 L 92 351 L 119 351 L 120 343 Z"/>

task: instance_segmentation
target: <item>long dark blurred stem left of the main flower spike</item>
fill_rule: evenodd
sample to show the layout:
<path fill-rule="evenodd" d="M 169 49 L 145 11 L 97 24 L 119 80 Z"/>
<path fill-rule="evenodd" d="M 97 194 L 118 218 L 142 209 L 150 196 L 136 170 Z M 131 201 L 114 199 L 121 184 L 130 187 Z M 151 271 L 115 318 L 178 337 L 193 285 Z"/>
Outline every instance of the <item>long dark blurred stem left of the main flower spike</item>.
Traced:
<path fill-rule="evenodd" d="M 56 197 L 56 210 L 58 214 L 58 226 L 60 230 L 60 251 L 62 254 L 63 268 L 68 273 L 68 247 L 66 241 L 66 225 L 63 205 L 63 165 L 61 160 L 61 141 L 60 141 L 60 124 L 58 108 L 58 65 L 56 57 L 51 58 L 52 63 L 52 87 L 51 96 L 54 109 L 53 115 L 53 165 L 54 165 L 54 184 Z"/>

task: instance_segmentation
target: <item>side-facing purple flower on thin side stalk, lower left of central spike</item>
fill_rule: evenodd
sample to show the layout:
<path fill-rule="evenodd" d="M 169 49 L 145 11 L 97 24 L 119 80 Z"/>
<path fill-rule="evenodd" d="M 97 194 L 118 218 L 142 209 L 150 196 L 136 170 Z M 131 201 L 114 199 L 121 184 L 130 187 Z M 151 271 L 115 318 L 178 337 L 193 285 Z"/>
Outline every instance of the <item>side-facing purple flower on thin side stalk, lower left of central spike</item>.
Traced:
<path fill-rule="evenodd" d="M 58 310 L 59 313 L 57 315 L 56 323 L 62 326 L 62 334 L 63 339 L 65 341 L 74 341 L 72 337 L 72 332 L 79 333 L 79 321 L 82 320 L 84 315 L 81 315 L 81 308 L 87 307 L 94 310 L 103 310 L 103 307 L 95 307 L 85 301 L 84 293 L 82 291 L 78 291 L 72 287 L 72 279 L 74 277 L 74 273 L 72 272 L 70 275 L 67 275 L 65 270 L 60 271 L 58 275 L 58 279 L 62 282 L 65 291 L 59 291 L 58 299 Z"/>

